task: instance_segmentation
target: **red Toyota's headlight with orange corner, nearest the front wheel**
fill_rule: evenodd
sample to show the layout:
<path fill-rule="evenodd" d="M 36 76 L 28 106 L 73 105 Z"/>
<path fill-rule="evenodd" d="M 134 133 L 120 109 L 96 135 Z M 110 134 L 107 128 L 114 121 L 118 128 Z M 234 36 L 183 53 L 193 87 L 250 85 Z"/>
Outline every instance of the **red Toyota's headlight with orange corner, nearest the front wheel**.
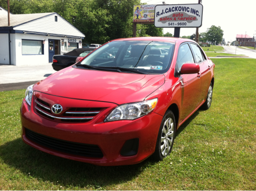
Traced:
<path fill-rule="evenodd" d="M 116 120 L 133 120 L 148 114 L 156 107 L 157 98 L 152 100 L 146 100 L 142 102 L 136 102 L 131 104 L 123 104 L 117 106 L 104 120 L 107 121 L 116 121 Z"/>

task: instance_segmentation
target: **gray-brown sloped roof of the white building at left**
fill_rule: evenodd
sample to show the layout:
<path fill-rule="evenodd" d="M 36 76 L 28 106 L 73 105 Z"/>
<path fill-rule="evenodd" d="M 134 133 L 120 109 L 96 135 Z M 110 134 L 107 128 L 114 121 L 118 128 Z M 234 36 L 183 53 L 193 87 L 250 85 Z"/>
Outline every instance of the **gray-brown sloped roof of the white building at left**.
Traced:
<path fill-rule="evenodd" d="M 10 26 L 18 26 L 21 24 L 25 24 L 26 22 L 30 22 L 44 16 L 48 16 L 54 13 L 35 13 L 35 14 L 10 14 Z M 8 26 L 8 16 L 0 15 L 0 27 Z"/>

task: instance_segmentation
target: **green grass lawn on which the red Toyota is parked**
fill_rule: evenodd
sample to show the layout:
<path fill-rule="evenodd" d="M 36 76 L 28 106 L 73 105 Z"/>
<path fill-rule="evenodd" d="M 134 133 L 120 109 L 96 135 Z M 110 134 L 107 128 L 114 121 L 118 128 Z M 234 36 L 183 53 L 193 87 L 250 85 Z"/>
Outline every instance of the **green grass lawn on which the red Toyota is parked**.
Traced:
<path fill-rule="evenodd" d="M 212 59 L 212 106 L 176 132 L 164 161 L 99 167 L 20 138 L 25 90 L 0 92 L 0 190 L 256 190 L 256 59 Z"/>

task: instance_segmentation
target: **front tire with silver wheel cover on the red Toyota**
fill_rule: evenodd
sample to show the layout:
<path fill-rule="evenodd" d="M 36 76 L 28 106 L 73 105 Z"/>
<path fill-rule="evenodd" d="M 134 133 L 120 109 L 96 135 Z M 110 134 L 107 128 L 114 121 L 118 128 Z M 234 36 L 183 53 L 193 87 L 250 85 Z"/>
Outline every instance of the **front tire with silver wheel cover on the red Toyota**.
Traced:
<path fill-rule="evenodd" d="M 171 110 L 167 110 L 166 113 L 164 114 L 164 117 L 160 125 L 160 129 L 158 132 L 156 149 L 153 154 L 154 160 L 162 161 L 166 156 L 170 154 L 170 152 L 172 151 L 175 132 L 176 132 L 176 123 L 175 123 L 174 114 Z"/>

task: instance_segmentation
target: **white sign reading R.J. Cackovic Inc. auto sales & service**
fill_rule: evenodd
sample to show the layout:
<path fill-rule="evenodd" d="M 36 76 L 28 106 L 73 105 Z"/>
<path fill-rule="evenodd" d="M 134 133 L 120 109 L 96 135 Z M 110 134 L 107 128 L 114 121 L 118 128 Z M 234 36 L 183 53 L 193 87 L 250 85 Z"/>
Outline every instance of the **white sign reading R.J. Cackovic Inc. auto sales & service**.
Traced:
<path fill-rule="evenodd" d="M 157 5 L 154 25 L 160 28 L 201 27 L 202 4 Z"/>

